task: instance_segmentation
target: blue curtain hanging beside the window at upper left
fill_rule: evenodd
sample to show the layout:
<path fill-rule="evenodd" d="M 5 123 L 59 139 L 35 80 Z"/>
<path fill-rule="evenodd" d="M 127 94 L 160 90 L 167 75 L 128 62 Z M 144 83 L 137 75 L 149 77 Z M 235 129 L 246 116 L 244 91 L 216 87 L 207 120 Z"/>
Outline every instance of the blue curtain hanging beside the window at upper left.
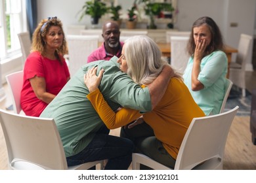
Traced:
<path fill-rule="evenodd" d="M 26 0 L 26 12 L 28 17 L 28 28 L 30 30 L 30 39 L 33 31 L 37 27 L 37 0 Z"/>

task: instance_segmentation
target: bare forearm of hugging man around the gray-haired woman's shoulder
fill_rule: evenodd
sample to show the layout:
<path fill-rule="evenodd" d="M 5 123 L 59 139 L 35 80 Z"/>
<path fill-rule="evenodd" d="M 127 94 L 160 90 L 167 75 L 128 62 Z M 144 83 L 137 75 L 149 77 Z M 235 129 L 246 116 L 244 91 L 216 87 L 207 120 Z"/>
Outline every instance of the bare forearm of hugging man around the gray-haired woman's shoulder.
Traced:
<path fill-rule="evenodd" d="M 158 102 L 163 97 L 165 90 L 167 89 L 169 80 L 173 77 L 174 71 L 169 65 L 165 65 L 160 75 L 148 85 L 148 90 L 150 91 L 152 109 L 158 105 Z"/>

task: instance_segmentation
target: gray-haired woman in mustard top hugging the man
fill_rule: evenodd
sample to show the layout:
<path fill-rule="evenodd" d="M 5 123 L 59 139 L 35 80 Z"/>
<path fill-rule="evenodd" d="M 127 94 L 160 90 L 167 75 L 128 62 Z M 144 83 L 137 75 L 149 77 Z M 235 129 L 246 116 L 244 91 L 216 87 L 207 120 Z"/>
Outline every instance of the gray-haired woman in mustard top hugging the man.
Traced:
<path fill-rule="evenodd" d="M 146 36 L 127 39 L 122 56 L 117 62 L 121 71 L 131 76 L 142 87 L 150 84 L 161 73 L 163 66 L 167 65 L 167 62 L 161 59 L 158 45 Z M 102 76 L 104 77 L 102 70 L 96 76 L 96 68 L 85 75 L 85 84 L 90 91 L 87 98 L 102 121 L 109 129 L 114 129 L 125 126 L 142 115 L 143 119 L 139 118 L 137 121 L 144 122 L 122 127 L 121 137 L 131 139 L 137 152 L 173 168 L 190 122 L 195 117 L 205 116 L 182 81 L 181 75 L 176 73 L 171 78 L 158 105 L 147 113 L 129 108 L 121 108 L 117 113 L 112 111 L 98 90 Z"/>

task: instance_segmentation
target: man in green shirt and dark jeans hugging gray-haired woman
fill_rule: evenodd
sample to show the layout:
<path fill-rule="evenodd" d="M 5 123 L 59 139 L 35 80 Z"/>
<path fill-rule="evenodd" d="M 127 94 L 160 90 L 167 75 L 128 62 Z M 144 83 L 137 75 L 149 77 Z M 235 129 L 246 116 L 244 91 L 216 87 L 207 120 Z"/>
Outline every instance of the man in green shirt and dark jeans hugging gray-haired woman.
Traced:
<path fill-rule="evenodd" d="M 40 117 L 54 118 L 68 166 L 108 159 L 105 169 L 127 169 L 133 142 L 108 135 L 109 129 L 86 97 L 89 90 L 83 76 L 96 66 L 98 71 L 104 69 L 99 89 L 113 110 L 119 107 L 152 110 L 163 96 L 173 71 L 166 67 L 152 84 L 140 88 L 120 71 L 116 56 L 110 61 L 93 61 L 81 67 L 41 113 Z"/>

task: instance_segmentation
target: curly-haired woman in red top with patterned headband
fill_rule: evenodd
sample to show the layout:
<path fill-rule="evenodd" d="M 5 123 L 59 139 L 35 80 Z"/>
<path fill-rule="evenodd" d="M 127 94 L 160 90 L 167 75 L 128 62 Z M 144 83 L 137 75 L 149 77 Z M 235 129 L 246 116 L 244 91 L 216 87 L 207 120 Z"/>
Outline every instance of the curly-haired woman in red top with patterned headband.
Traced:
<path fill-rule="evenodd" d="M 70 80 L 63 58 L 67 53 L 62 22 L 56 17 L 41 20 L 33 33 L 32 52 L 24 65 L 20 104 L 26 115 L 40 116 Z"/>

